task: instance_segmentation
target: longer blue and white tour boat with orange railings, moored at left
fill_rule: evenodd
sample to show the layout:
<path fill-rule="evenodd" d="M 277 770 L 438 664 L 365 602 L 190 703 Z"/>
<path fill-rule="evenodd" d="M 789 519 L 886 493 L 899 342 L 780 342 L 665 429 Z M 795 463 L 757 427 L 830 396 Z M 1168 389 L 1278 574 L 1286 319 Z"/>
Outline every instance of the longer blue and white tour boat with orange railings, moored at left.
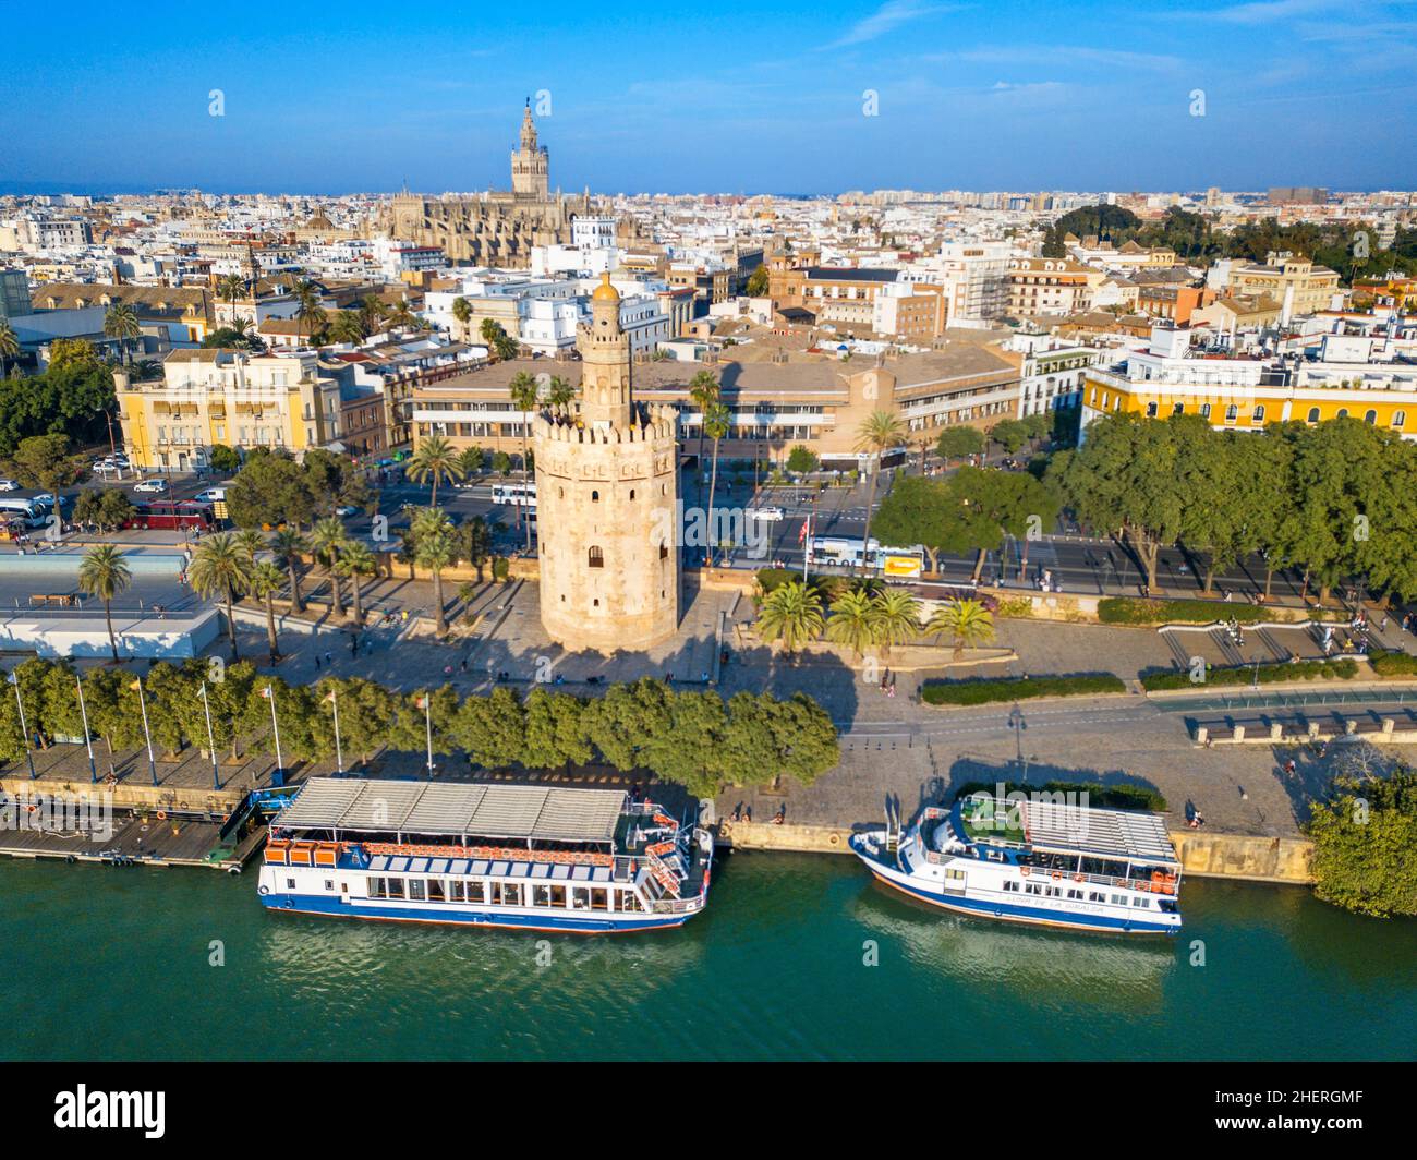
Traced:
<path fill-rule="evenodd" d="M 312 777 L 271 821 L 261 902 L 395 922 L 680 926 L 713 835 L 621 790 Z"/>

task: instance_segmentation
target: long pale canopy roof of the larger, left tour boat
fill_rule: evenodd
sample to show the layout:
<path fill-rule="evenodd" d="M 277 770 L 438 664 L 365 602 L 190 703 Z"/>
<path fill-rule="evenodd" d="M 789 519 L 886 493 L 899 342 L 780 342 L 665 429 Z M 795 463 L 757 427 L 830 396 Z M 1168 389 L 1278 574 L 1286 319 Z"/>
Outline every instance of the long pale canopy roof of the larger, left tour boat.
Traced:
<path fill-rule="evenodd" d="M 289 830 L 608 842 L 622 790 L 312 777 L 275 820 Z"/>

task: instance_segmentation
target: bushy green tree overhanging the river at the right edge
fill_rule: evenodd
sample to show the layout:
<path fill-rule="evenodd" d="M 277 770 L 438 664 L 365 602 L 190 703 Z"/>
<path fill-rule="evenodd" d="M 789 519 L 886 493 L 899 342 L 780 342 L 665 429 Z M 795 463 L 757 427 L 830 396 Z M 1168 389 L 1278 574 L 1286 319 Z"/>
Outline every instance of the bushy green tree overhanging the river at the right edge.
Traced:
<path fill-rule="evenodd" d="M 1417 915 L 1417 770 L 1339 776 L 1315 803 L 1314 893 L 1359 915 Z"/>

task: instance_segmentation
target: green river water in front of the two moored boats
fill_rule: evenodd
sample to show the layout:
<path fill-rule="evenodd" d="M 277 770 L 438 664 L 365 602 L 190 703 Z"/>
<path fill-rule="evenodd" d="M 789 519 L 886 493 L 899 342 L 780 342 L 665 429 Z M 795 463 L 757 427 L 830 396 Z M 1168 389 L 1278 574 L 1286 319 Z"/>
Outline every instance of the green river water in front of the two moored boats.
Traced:
<path fill-rule="evenodd" d="M 1413 1059 L 1417 922 L 1190 879 L 1176 939 L 924 909 L 734 854 L 619 937 L 265 912 L 255 876 L 0 864 L 4 1059 Z"/>

